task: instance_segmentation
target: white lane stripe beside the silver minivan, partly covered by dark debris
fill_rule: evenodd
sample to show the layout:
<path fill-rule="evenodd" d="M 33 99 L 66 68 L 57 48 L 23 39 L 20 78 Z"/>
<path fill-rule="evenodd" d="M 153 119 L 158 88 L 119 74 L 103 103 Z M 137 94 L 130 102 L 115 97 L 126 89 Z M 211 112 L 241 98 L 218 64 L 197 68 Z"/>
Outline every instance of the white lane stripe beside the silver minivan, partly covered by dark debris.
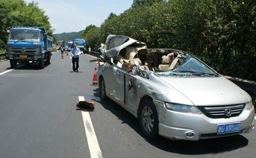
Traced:
<path fill-rule="evenodd" d="M 79 101 L 85 101 L 85 98 L 83 96 L 79 96 Z M 91 158 L 103 158 L 89 112 L 82 111 L 82 116 Z"/>

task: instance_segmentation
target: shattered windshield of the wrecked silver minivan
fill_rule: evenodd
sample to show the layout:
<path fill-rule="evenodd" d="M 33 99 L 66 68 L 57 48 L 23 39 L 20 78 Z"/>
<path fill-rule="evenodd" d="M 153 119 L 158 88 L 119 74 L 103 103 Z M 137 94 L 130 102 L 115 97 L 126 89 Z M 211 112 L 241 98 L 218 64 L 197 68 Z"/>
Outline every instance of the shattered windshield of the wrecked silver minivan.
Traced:
<path fill-rule="evenodd" d="M 189 54 L 177 56 L 176 65 L 167 71 L 156 71 L 165 77 L 218 77 L 219 74 Z"/>

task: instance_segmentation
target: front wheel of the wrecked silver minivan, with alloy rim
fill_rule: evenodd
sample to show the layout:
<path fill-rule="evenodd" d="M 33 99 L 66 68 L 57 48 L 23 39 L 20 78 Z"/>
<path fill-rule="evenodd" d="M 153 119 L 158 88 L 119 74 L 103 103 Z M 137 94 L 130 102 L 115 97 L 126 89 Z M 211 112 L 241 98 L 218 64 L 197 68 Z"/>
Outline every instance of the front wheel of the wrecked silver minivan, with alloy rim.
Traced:
<path fill-rule="evenodd" d="M 156 138 L 158 135 L 158 114 L 150 99 L 141 102 L 138 120 L 143 135 L 149 139 Z"/>

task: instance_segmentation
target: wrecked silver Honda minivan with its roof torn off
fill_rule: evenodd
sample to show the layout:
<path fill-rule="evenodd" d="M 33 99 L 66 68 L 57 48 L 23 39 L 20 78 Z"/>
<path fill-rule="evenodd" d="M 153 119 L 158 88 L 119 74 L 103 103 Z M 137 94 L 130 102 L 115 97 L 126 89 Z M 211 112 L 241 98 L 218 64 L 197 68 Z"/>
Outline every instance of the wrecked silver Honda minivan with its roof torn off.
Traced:
<path fill-rule="evenodd" d="M 146 138 L 219 138 L 254 129 L 251 96 L 181 50 L 109 35 L 98 59 L 100 98 L 138 118 Z"/>

